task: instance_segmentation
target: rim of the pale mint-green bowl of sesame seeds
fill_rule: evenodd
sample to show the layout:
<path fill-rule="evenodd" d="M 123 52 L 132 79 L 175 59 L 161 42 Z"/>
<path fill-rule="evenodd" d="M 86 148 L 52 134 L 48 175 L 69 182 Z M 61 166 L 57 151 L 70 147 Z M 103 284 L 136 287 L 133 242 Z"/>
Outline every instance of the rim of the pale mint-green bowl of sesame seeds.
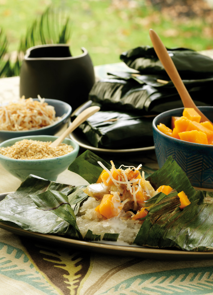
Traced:
<path fill-rule="evenodd" d="M 32 140 L 36 140 L 36 139 L 33 139 L 32 137 L 44 137 L 44 139 L 47 139 L 47 137 L 54 137 L 55 139 L 59 138 L 59 136 L 55 136 L 55 135 L 29 135 L 29 136 L 21 136 L 21 137 L 14 137 L 14 138 L 11 138 L 11 139 L 8 139 L 8 140 L 5 140 L 3 142 L 0 143 L 0 148 L 2 148 L 2 144 L 4 143 L 7 143 L 7 142 L 10 142 L 11 140 L 16 140 L 16 141 L 19 141 L 19 140 L 22 140 L 22 139 L 32 139 Z M 46 158 L 46 159 L 35 159 L 35 160 L 24 160 L 24 159 L 13 159 L 13 158 L 9 158 L 9 157 L 6 157 L 4 155 L 2 155 L 0 153 L 0 159 L 3 159 L 3 160 L 9 160 L 11 162 L 22 162 L 22 161 L 27 161 L 27 163 L 37 163 L 38 161 L 42 161 L 42 162 L 45 162 L 45 161 L 50 161 L 50 160 L 56 160 L 58 158 L 62 159 L 62 158 L 65 158 L 67 157 L 68 155 L 70 154 L 73 154 L 73 153 L 78 153 L 79 152 L 79 145 L 77 142 L 75 142 L 74 140 L 71 140 L 70 138 L 65 138 L 64 140 L 68 140 L 71 142 L 71 146 L 73 147 L 73 150 L 65 155 L 61 155 L 61 156 L 58 156 L 58 157 L 54 157 L 54 158 Z M 16 142 L 15 141 L 15 142 Z M 41 140 L 40 140 L 41 141 Z M 48 141 L 48 139 L 46 140 Z"/>

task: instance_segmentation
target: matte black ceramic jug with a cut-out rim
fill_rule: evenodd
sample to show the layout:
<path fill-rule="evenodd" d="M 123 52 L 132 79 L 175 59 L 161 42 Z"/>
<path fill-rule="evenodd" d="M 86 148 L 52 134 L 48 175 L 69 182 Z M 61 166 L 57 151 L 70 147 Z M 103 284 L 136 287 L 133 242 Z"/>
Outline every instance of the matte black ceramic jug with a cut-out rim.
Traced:
<path fill-rule="evenodd" d="M 94 67 L 88 51 L 71 56 L 68 44 L 29 48 L 20 71 L 20 97 L 65 101 L 75 110 L 88 100 L 94 82 Z"/>

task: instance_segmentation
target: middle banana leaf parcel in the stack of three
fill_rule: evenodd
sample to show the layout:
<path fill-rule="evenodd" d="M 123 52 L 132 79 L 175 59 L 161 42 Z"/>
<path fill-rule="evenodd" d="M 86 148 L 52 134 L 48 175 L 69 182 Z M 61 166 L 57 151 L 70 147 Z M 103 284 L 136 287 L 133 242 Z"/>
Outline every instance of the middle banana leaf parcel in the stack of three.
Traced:
<path fill-rule="evenodd" d="M 173 83 L 165 76 L 124 76 L 120 74 L 120 77 L 99 80 L 93 85 L 89 99 L 100 104 L 102 110 L 132 112 L 137 115 L 159 114 L 183 107 Z M 157 82 L 157 79 L 165 81 L 165 78 L 169 83 Z M 213 78 L 183 81 L 197 106 L 212 105 L 209 100 L 212 81 Z"/>

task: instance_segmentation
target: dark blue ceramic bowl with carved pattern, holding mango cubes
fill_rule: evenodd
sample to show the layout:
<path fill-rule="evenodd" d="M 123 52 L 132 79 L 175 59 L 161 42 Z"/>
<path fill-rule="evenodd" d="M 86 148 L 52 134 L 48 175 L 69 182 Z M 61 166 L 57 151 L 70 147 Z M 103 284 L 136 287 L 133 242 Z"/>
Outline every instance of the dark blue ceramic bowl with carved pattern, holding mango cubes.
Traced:
<path fill-rule="evenodd" d="M 213 189 L 213 146 L 186 142 L 165 135 L 157 129 L 159 123 L 170 127 L 172 116 L 182 116 L 184 108 L 173 109 L 159 114 L 153 120 L 153 136 L 158 165 L 161 168 L 172 156 L 186 173 L 192 186 Z M 213 122 L 213 106 L 199 109 Z"/>

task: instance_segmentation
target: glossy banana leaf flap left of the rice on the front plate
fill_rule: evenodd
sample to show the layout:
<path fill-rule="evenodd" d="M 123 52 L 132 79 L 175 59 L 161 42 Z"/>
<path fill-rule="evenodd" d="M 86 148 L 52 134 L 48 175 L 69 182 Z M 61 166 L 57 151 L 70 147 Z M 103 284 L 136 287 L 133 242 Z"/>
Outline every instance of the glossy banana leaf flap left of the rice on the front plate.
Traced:
<path fill-rule="evenodd" d="M 62 218 L 64 207 L 60 206 L 57 210 L 51 210 L 57 207 L 53 192 L 57 192 L 56 196 L 63 196 L 65 203 L 67 201 L 75 206 L 87 198 L 87 195 L 81 190 L 82 186 L 71 186 L 67 184 L 56 183 L 54 181 L 48 181 L 46 179 L 30 175 L 26 180 L 21 183 L 21 186 L 14 193 L 8 194 L 4 200 L 0 202 L 0 220 L 6 224 L 18 227 L 30 232 L 49 233 L 55 235 L 63 235 L 65 237 L 81 238 L 79 230 L 76 224 L 73 222 L 73 212 L 71 224 Z M 52 194 L 51 194 L 51 193 Z M 39 197 L 37 197 L 39 196 Z M 50 196 L 52 198 L 50 199 Z M 42 210 L 38 210 L 36 204 L 41 207 Z M 51 203 L 47 202 L 51 201 Z M 75 201 L 74 201 L 75 199 Z M 69 205 L 70 207 L 70 205 Z M 52 214 L 52 212 L 59 212 L 58 216 Z M 66 213 L 66 212 L 65 212 Z"/>

